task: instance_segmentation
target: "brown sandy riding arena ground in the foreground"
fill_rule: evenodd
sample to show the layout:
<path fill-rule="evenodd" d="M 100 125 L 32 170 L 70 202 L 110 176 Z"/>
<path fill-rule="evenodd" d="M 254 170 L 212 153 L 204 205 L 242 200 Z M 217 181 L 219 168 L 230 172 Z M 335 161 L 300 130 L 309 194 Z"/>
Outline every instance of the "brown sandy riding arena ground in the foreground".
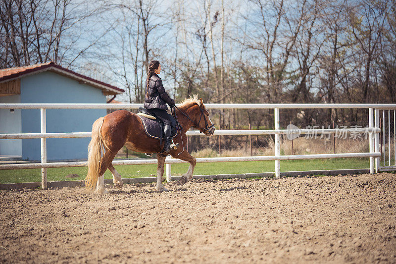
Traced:
<path fill-rule="evenodd" d="M 396 175 L 0 192 L 0 263 L 395 263 Z"/>

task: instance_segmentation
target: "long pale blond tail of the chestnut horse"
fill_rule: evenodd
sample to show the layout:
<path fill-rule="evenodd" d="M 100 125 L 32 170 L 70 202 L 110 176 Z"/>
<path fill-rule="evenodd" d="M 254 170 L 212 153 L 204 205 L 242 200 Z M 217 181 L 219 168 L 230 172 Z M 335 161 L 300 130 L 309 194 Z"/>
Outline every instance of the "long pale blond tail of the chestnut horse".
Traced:
<path fill-rule="evenodd" d="M 98 181 L 100 159 L 104 153 L 104 144 L 100 130 L 103 124 L 103 117 L 98 118 L 92 125 L 92 139 L 88 145 L 88 174 L 85 177 L 85 187 L 93 189 Z"/>

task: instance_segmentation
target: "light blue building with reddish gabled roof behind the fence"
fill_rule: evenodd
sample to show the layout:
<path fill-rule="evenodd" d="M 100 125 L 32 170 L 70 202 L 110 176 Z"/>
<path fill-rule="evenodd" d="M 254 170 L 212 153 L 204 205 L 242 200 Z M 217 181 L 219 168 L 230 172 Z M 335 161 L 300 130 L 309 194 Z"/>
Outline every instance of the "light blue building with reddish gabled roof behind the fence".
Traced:
<path fill-rule="evenodd" d="M 124 90 L 53 62 L 0 70 L 0 104 L 106 103 Z M 114 97 L 113 97 L 114 99 Z M 91 132 L 106 109 L 47 109 L 47 132 Z M 40 133 L 40 109 L 0 109 L 0 133 Z M 86 159 L 91 138 L 47 139 L 47 159 Z M 40 160 L 40 139 L 2 139 L 0 156 Z"/>

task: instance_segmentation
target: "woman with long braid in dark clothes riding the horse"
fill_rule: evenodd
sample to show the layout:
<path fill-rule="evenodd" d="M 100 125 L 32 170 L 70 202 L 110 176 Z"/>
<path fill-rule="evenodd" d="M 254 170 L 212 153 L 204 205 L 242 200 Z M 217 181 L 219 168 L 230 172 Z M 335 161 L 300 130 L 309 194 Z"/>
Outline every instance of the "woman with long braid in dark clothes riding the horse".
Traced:
<path fill-rule="evenodd" d="M 160 72 L 161 64 L 159 64 L 159 61 L 151 60 L 148 64 L 144 107 L 149 113 L 155 114 L 164 123 L 164 151 L 169 153 L 171 149 L 177 149 L 179 146 L 179 144 L 170 144 L 172 116 L 166 112 L 166 109 L 168 109 L 166 104 L 173 107 L 175 106 L 175 100 L 169 97 L 162 86 L 161 78 L 158 77 Z"/>

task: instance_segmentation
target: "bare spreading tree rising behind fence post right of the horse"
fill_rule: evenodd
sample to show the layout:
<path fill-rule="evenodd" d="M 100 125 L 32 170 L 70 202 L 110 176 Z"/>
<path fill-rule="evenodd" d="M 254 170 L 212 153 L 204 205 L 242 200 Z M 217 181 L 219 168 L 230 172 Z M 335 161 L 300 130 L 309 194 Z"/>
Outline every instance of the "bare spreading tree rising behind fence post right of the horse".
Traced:
<path fill-rule="evenodd" d="M 297 15 L 295 12 L 287 13 L 283 0 L 250 2 L 258 8 L 259 16 L 246 17 L 257 31 L 248 32 L 249 38 L 245 45 L 263 55 L 264 77 L 260 86 L 267 102 L 275 103 L 280 100 L 278 93 L 287 78 L 285 69 L 290 62 L 291 51 L 305 16 L 306 1 L 297 1 L 296 6 L 288 7 L 294 11 L 297 9 Z"/>

